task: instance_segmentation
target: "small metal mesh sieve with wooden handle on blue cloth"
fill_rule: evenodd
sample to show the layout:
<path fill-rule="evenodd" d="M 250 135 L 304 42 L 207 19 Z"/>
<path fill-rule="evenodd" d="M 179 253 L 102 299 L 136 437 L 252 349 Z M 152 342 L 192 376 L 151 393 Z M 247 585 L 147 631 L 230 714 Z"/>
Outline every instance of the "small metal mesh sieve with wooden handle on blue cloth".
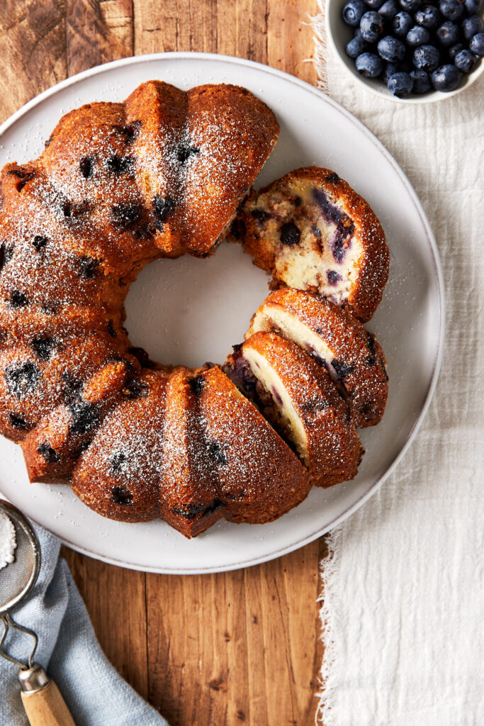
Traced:
<path fill-rule="evenodd" d="M 15 608 L 37 582 L 41 566 L 41 547 L 37 535 L 17 507 L 0 499 L 0 513 L 7 515 L 15 527 L 17 547 L 15 559 L 0 570 L 0 620 L 4 625 L 0 637 L 0 656 L 20 667 L 19 680 L 22 688 L 22 703 L 31 726 L 75 726 L 65 701 L 57 686 L 42 666 L 33 663 L 38 638 L 33 630 L 18 624 L 10 611 Z M 25 661 L 20 661 L 4 650 L 9 629 L 30 635 L 33 646 Z"/>

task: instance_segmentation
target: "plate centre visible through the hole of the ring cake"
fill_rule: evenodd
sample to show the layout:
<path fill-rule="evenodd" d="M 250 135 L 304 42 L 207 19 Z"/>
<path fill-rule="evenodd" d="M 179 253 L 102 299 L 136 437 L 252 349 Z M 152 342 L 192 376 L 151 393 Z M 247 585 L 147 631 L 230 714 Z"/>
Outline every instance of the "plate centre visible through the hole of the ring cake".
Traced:
<path fill-rule="evenodd" d="M 134 346 L 161 363 L 223 363 L 268 295 L 269 277 L 240 245 L 223 243 L 212 257 L 184 255 L 147 265 L 126 300 Z"/>

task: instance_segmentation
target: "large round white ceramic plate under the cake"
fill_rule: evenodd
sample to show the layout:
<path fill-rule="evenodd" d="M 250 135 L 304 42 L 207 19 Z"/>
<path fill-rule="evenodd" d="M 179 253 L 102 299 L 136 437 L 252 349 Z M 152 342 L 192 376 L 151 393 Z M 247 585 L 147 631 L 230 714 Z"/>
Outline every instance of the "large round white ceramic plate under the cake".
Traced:
<path fill-rule="evenodd" d="M 348 111 L 292 76 L 237 58 L 167 53 L 120 60 L 81 73 L 20 109 L 0 129 L 0 166 L 41 151 L 63 113 L 94 100 L 120 101 L 141 81 L 188 89 L 237 83 L 276 113 L 281 136 L 261 173 L 266 184 L 298 166 L 327 166 L 374 208 L 391 250 L 390 282 L 369 330 L 385 349 L 390 397 L 382 423 L 361 433 L 358 477 L 314 489 L 299 507 L 265 525 L 217 523 L 187 540 L 161 521 L 125 524 L 91 512 L 68 486 L 28 484 L 20 446 L 0 438 L 0 491 L 76 550 L 117 565 L 194 574 L 237 569 L 284 555 L 343 521 L 395 467 L 414 438 L 435 386 L 443 343 L 443 283 L 422 207 L 395 160 Z M 213 258 L 160 260 L 141 272 L 127 303 L 134 344 L 164 362 L 222 362 L 242 340 L 267 294 L 267 278 L 236 245 Z"/>

